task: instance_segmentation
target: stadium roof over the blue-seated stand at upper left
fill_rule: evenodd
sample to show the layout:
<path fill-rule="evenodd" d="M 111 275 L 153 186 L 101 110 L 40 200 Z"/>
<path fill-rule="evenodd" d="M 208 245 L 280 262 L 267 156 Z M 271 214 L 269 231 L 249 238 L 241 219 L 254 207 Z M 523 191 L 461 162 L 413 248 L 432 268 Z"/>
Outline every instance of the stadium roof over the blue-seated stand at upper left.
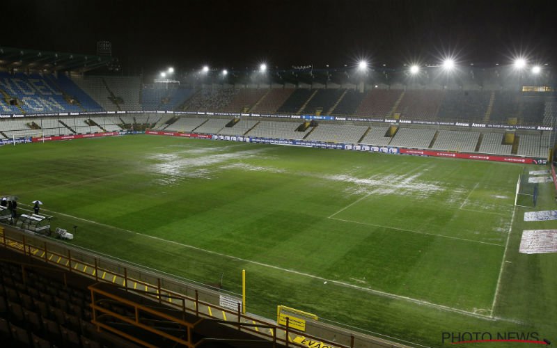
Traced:
<path fill-rule="evenodd" d="M 86 72 L 109 65 L 113 61 L 111 56 L 0 47 L 0 69 L 3 70 Z"/>

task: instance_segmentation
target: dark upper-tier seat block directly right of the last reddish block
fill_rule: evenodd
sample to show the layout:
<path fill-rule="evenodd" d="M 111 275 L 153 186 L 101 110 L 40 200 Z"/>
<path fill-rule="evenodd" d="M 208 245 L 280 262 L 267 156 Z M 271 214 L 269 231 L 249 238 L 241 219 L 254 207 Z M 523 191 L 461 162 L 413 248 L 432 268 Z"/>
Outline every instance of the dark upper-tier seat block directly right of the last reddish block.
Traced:
<path fill-rule="evenodd" d="M 483 120 L 491 92 L 447 90 L 439 107 L 439 118 L 446 120 Z"/>

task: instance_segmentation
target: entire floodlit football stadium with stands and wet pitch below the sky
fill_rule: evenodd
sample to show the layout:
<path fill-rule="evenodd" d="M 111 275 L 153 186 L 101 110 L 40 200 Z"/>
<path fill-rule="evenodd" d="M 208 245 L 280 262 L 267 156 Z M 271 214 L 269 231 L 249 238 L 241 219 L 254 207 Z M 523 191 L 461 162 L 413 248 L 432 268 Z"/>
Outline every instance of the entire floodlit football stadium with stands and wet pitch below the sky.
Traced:
<path fill-rule="evenodd" d="M 110 47 L 0 47 L 7 346 L 557 344 L 551 64 Z"/>

